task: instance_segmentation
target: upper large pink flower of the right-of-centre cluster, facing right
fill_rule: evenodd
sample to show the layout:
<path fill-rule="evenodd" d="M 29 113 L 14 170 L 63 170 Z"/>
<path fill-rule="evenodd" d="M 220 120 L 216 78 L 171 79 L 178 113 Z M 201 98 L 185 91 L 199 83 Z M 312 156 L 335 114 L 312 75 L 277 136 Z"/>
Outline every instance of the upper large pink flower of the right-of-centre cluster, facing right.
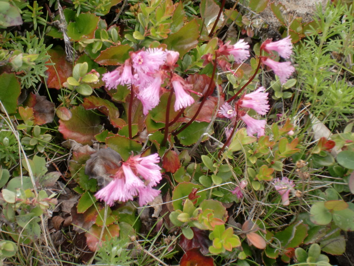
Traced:
<path fill-rule="evenodd" d="M 252 108 L 260 115 L 265 115 L 269 111 L 268 92 L 264 92 L 264 87 L 259 87 L 255 91 L 243 95 L 237 102 L 243 108 Z"/>

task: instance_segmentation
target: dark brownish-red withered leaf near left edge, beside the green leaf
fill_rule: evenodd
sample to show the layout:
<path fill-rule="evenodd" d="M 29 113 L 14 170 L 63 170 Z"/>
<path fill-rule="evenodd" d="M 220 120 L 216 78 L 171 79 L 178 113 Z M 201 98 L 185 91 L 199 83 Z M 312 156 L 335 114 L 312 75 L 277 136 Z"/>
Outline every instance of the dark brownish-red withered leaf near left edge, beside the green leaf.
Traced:
<path fill-rule="evenodd" d="M 55 104 L 48 101 L 45 96 L 30 93 L 23 105 L 33 108 L 34 124 L 44 125 L 53 122 Z"/>

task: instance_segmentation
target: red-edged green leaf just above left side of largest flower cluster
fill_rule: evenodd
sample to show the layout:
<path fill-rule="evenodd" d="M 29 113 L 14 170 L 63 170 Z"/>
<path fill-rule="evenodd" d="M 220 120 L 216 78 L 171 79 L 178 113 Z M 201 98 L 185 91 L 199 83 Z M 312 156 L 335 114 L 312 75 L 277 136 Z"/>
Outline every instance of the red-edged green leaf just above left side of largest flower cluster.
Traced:
<path fill-rule="evenodd" d="M 95 59 L 95 62 L 104 66 L 117 66 L 129 58 L 129 51 L 132 51 L 132 48 L 127 44 L 111 46 L 102 51 L 98 58 Z"/>

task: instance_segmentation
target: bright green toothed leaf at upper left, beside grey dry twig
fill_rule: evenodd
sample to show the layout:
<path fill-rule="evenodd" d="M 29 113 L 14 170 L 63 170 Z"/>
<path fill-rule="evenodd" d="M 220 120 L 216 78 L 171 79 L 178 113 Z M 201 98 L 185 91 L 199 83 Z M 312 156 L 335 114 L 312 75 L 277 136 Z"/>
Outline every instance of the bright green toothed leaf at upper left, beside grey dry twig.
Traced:
<path fill-rule="evenodd" d="M 80 41 L 83 38 L 94 38 L 95 30 L 100 18 L 95 14 L 81 13 L 74 22 L 67 25 L 67 35 L 73 41 Z"/>

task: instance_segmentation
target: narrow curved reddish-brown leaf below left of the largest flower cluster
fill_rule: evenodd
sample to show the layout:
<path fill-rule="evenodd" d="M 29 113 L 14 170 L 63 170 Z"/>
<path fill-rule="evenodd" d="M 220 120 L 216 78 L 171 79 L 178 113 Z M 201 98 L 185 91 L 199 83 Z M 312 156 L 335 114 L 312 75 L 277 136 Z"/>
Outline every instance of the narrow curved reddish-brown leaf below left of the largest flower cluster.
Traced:
<path fill-rule="evenodd" d="M 86 110 L 98 109 L 101 113 L 108 116 L 112 126 L 115 128 L 121 129 L 126 125 L 125 121 L 119 118 L 118 108 L 108 100 L 96 96 L 89 96 L 84 99 L 82 106 Z"/>

